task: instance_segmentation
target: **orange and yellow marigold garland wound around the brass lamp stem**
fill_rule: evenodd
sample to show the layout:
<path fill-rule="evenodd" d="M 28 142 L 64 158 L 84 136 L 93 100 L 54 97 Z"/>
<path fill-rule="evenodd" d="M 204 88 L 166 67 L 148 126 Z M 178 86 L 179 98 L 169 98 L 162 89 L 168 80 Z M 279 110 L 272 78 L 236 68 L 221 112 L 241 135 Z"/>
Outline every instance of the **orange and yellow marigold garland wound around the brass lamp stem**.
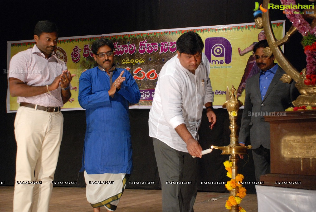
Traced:
<path fill-rule="evenodd" d="M 227 160 L 224 162 L 225 169 L 227 170 L 227 176 L 229 178 L 232 178 L 232 165 L 233 165 L 233 162 L 231 162 L 231 161 Z M 241 199 L 246 196 L 246 189 L 244 187 L 242 187 L 242 180 L 243 179 L 244 179 L 244 176 L 242 174 L 237 174 L 235 179 L 231 179 L 231 180 L 227 181 L 227 183 L 225 184 L 225 187 L 227 190 L 232 190 L 232 189 L 236 188 L 237 186 L 239 187 L 239 191 L 236 194 L 236 196 L 229 196 L 228 200 L 226 200 L 225 207 L 227 209 L 231 209 L 231 207 L 233 205 L 240 204 Z M 246 210 L 243 209 L 242 207 L 239 207 L 239 211 L 246 212 Z"/>

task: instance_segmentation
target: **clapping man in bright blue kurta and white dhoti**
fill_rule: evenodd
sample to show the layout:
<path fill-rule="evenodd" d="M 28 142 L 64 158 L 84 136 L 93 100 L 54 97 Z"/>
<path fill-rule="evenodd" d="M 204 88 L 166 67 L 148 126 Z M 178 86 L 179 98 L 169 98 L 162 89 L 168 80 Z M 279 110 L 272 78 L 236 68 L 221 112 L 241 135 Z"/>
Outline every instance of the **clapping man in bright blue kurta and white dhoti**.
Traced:
<path fill-rule="evenodd" d="M 82 72 L 78 100 L 86 109 L 87 129 L 83 165 L 86 196 L 94 211 L 114 211 L 132 171 L 128 104 L 138 103 L 140 92 L 126 69 L 113 65 L 112 41 L 92 44 L 97 67 Z"/>

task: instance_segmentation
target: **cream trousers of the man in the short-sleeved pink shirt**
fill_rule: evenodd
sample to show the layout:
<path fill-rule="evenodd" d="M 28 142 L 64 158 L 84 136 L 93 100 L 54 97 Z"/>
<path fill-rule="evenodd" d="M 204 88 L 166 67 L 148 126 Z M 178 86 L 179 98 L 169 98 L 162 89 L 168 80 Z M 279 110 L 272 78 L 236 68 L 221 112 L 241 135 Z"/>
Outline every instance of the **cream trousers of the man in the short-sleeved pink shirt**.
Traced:
<path fill-rule="evenodd" d="M 27 107 L 17 110 L 14 122 L 17 143 L 14 212 L 48 211 L 63 122 L 61 112 Z M 21 184 L 34 181 L 42 184 Z"/>

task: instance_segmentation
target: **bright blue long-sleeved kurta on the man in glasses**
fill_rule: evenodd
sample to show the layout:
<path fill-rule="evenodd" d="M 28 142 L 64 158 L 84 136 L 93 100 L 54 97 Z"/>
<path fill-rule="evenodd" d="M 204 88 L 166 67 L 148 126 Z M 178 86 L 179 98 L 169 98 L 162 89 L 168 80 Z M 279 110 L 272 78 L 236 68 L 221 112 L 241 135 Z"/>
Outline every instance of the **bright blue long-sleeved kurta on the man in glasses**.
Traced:
<path fill-rule="evenodd" d="M 127 173 L 132 171 L 132 147 L 128 103 L 138 103 L 140 92 L 135 79 L 125 69 L 116 68 L 112 81 L 122 71 L 126 80 L 109 97 L 110 78 L 94 67 L 79 78 L 79 104 L 86 109 L 82 170 L 88 174 Z"/>

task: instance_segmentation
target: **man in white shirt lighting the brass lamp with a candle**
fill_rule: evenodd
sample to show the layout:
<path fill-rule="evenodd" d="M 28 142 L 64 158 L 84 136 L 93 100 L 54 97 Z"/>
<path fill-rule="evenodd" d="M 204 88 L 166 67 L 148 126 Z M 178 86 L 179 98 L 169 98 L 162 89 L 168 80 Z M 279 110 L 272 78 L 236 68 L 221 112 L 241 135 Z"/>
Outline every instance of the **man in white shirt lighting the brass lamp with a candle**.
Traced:
<path fill-rule="evenodd" d="M 149 112 L 149 136 L 153 137 L 162 187 L 162 210 L 193 211 L 197 195 L 198 143 L 203 104 L 210 129 L 216 123 L 210 62 L 202 53 L 204 43 L 194 32 L 177 40 L 177 55 L 162 67 Z"/>

